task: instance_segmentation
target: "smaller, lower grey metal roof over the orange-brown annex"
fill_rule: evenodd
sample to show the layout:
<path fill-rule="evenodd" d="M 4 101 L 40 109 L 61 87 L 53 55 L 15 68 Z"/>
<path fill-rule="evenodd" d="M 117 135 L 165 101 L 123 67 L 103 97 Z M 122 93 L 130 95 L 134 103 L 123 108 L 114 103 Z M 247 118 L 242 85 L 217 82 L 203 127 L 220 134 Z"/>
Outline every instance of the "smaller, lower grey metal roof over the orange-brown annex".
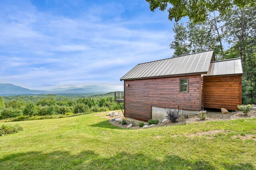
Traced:
<path fill-rule="evenodd" d="M 210 63 L 208 74 L 204 74 L 204 76 L 219 76 L 242 73 L 243 70 L 241 58 L 237 58 L 222 61 L 214 61 Z"/>

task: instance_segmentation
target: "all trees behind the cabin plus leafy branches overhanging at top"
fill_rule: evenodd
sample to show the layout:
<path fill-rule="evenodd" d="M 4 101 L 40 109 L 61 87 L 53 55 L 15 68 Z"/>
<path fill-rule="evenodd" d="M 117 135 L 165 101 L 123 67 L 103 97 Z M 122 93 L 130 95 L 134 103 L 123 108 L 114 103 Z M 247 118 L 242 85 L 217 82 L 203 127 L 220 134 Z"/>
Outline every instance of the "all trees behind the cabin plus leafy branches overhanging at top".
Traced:
<path fill-rule="evenodd" d="M 242 60 L 242 103 L 256 103 L 255 0 L 146 0 L 174 20 L 174 56 L 214 49 L 216 59 Z M 187 23 L 178 22 L 188 17 Z"/>

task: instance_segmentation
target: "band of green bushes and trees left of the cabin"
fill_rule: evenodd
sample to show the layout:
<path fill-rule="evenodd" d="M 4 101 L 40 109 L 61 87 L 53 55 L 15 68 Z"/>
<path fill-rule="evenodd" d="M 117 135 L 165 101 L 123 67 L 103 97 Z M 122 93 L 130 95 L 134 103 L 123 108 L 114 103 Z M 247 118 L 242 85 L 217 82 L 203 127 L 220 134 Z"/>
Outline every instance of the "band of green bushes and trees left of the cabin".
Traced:
<path fill-rule="evenodd" d="M 124 107 L 123 104 L 121 107 Z M 64 115 L 118 109 L 120 106 L 114 102 L 114 97 L 111 94 L 105 97 L 99 95 L 80 98 L 54 95 L 0 97 L 0 119 L 21 115 Z"/>

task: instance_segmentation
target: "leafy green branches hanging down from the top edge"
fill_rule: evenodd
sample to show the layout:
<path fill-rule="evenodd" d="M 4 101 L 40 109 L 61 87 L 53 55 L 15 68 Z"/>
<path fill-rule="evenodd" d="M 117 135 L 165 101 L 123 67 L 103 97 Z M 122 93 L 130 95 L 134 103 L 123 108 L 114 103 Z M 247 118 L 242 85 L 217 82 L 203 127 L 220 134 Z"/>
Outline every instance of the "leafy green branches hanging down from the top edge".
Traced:
<path fill-rule="evenodd" d="M 227 10 L 234 6 L 255 6 L 255 0 L 146 0 L 150 10 L 154 12 L 157 8 L 164 11 L 168 8 L 169 20 L 179 21 L 182 17 L 188 18 L 194 23 L 206 21 L 208 13 L 218 11 L 224 16 Z"/>

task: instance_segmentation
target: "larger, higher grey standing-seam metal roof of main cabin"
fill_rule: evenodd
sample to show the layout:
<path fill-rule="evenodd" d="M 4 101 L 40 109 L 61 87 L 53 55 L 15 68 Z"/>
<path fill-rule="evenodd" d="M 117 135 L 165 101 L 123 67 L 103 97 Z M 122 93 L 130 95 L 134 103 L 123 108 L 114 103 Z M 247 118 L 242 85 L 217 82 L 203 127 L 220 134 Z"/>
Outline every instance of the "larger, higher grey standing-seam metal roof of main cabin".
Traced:
<path fill-rule="evenodd" d="M 120 80 L 206 74 L 211 61 L 214 61 L 213 50 L 142 63 L 132 68 Z"/>

